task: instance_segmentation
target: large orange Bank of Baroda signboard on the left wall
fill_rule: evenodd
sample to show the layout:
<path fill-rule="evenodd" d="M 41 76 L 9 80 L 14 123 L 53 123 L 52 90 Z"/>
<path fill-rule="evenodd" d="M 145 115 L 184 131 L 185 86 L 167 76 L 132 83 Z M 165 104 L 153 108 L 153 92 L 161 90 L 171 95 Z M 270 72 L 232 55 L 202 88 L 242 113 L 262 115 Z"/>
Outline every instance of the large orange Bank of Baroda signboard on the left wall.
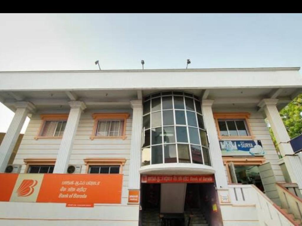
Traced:
<path fill-rule="evenodd" d="M 120 203 L 122 180 L 122 174 L 0 174 L 0 201 Z"/>

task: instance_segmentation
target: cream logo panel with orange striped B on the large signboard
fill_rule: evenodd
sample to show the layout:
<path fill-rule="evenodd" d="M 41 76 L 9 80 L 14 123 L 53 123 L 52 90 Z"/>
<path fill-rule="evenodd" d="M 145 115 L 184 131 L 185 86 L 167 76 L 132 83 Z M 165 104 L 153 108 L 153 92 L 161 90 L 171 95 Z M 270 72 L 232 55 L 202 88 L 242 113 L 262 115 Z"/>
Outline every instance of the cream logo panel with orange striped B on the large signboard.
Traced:
<path fill-rule="evenodd" d="M 10 202 L 36 202 L 44 174 L 19 174 Z"/>

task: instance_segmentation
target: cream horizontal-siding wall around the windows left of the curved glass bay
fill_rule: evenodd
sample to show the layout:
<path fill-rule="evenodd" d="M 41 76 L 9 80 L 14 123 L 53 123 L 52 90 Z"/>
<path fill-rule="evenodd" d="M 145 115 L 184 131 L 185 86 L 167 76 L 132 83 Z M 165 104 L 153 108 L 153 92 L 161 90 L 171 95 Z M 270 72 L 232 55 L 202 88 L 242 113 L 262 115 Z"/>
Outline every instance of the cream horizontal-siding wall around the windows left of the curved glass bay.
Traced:
<path fill-rule="evenodd" d="M 92 113 L 130 113 L 130 117 L 126 122 L 126 139 L 94 139 L 91 140 L 94 119 Z M 48 113 L 43 111 L 43 114 Z M 55 113 L 55 112 L 51 112 Z M 60 111 L 59 113 L 63 113 Z M 64 112 L 64 113 L 68 113 Z M 56 158 L 61 144 L 61 139 L 38 139 L 37 136 L 42 120 L 40 112 L 32 116 L 24 134 L 14 164 L 21 164 L 21 173 L 25 172 L 26 158 Z M 132 128 L 132 110 L 129 109 L 110 109 L 110 110 L 86 110 L 82 113 L 76 137 L 73 144 L 72 153 L 70 155 L 69 164 L 82 165 L 81 173 L 86 172 L 84 159 L 86 158 L 125 158 L 126 162 L 123 167 L 123 191 L 122 205 L 128 202 L 128 181 L 129 181 L 129 165 L 130 165 L 130 145 L 131 145 L 131 128 Z"/>

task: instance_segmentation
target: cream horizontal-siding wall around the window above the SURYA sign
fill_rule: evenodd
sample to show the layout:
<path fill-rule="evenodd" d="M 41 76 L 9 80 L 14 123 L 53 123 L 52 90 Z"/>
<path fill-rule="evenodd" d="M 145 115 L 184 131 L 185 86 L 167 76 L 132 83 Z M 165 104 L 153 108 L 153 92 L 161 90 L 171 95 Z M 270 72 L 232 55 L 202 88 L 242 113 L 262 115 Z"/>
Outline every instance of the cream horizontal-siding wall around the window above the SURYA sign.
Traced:
<path fill-rule="evenodd" d="M 213 108 L 213 112 L 249 112 L 249 123 L 251 126 L 251 132 L 255 136 L 255 140 L 261 140 L 263 149 L 265 151 L 265 162 L 270 162 L 274 171 L 274 175 L 277 182 L 285 182 L 280 166 L 278 165 L 278 154 L 275 149 L 271 135 L 269 134 L 268 127 L 265 123 L 265 116 L 262 112 L 258 112 L 255 109 L 221 109 Z M 226 174 L 227 175 L 227 174 Z M 229 179 L 228 179 L 229 180 Z M 230 182 L 230 180 L 229 180 Z"/>

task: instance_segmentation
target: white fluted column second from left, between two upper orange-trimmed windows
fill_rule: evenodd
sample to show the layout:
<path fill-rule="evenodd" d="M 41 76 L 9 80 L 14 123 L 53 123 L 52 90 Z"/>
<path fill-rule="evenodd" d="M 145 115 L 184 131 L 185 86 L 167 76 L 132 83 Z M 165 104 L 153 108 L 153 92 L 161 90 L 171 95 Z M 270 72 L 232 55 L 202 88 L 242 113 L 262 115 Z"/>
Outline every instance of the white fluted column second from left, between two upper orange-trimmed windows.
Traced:
<path fill-rule="evenodd" d="M 53 173 L 58 174 L 64 174 L 67 172 L 73 141 L 76 136 L 76 130 L 79 125 L 81 113 L 86 108 L 84 102 L 81 101 L 71 101 L 69 102 L 69 105 L 71 108 L 68 115 L 61 145 L 59 147 L 56 165 L 53 169 Z"/>

